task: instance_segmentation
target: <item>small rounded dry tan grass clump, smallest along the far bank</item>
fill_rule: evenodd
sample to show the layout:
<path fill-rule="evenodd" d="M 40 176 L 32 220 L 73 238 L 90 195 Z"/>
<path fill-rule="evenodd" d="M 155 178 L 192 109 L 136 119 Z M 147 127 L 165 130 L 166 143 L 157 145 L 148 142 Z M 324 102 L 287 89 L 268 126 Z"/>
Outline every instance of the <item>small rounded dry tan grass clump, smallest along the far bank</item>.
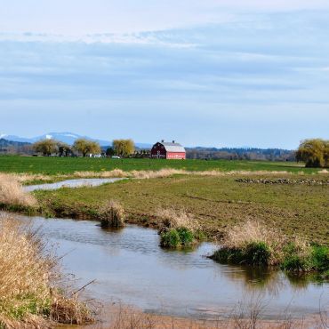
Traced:
<path fill-rule="evenodd" d="M 110 200 L 100 209 L 100 226 L 103 229 L 124 227 L 124 207 Z"/>

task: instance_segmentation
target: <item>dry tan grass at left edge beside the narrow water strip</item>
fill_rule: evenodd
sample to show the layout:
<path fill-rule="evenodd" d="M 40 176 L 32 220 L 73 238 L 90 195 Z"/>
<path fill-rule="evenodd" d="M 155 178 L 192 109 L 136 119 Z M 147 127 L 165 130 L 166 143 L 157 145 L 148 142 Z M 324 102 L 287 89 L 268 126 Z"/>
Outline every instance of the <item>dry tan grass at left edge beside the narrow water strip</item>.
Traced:
<path fill-rule="evenodd" d="M 36 205 L 36 199 L 25 192 L 15 175 L 0 173 L 0 204 Z"/>

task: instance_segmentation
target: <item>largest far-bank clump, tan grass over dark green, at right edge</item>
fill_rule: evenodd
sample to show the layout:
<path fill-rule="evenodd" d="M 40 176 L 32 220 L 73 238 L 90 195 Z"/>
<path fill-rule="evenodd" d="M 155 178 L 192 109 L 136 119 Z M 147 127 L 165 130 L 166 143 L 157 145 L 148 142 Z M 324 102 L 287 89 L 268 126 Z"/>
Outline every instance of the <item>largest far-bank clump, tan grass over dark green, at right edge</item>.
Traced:
<path fill-rule="evenodd" d="M 312 245 L 282 232 L 268 229 L 258 221 L 246 221 L 229 230 L 214 261 L 252 266 L 277 266 L 288 272 L 317 271 L 329 274 L 329 247 Z"/>

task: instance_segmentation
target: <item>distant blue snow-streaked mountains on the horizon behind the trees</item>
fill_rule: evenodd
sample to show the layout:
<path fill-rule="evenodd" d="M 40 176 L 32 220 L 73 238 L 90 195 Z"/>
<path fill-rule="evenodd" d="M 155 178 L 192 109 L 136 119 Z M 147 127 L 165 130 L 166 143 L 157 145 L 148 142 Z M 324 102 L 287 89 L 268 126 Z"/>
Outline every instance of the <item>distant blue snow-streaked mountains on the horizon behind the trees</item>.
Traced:
<path fill-rule="evenodd" d="M 75 140 L 77 140 L 79 138 L 84 138 L 86 140 L 98 141 L 100 143 L 101 147 L 106 147 L 111 144 L 110 140 L 98 140 L 98 139 L 94 139 L 94 138 L 91 138 L 88 136 L 78 135 L 73 132 L 49 132 L 49 133 L 45 133 L 44 135 L 36 136 L 36 137 L 32 137 L 32 138 L 25 138 L 25 137 L 6 135 L 4 133 L 3 134 L 0 133 L 0 139 L 19 141 L 19 142 L 24 142 L 24 143 L 35 143 L 38 140 L 53 139 L 53 140 L 62 141 L 64 143 L 67 143 L 68 145 L 73 145 Z M 137 148 L 151 148 L 152 147 L 151 144 L 147 144 L 147 143 L 136 143 L 135 145 Z"/>

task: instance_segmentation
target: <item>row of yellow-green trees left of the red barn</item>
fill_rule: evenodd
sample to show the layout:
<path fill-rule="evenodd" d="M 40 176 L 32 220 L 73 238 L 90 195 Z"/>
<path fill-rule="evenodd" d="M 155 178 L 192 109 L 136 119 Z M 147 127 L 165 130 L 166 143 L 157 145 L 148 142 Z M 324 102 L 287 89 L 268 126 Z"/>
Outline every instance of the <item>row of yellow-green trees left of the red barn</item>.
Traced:
<path fill-rule="evenodd" d="M 77 139 L 73 146 L 59 140 L 39 140 L 33 144 L 33 149 L 43 156 L 88 156 L 101 154 L 100 143 L 94 140 Z M 112 147 L 108 148 L 103 155 L 126 157 L 134 153 L 133 140 L 113 140 Z"/>

